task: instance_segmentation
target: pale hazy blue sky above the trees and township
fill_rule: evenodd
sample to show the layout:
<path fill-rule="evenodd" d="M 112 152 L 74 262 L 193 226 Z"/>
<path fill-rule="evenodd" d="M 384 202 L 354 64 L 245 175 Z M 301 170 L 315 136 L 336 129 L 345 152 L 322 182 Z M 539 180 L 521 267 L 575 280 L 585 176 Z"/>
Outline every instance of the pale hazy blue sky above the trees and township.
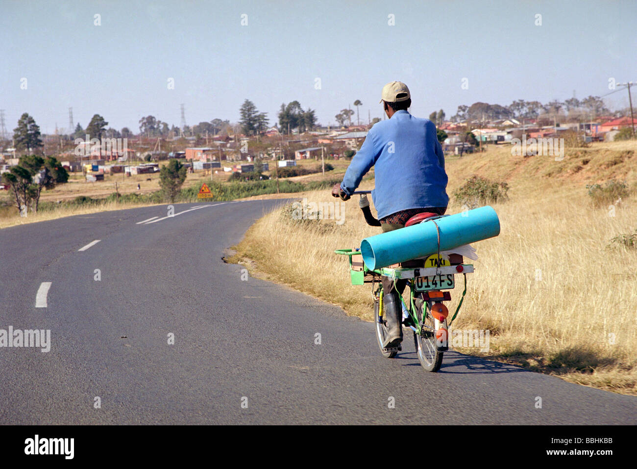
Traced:
<path fill-rule="evenodd" d="M 637 2 L 3 0 L 0 44 L 8 131 L 22 112 L 43 132 L 66 128 L 69 107 L 82 126 L 97 113 L 133 131 L 148 114 L 179 126 L 181 103 L 190 125 L 237 121 L 245 98 L 271 123 L 297 100 L 334 124 L 357 99 L 361 120 L 381 117 L 391 80 L 419 116 L 609 93 L 609 78 L 637 81 Z"/>

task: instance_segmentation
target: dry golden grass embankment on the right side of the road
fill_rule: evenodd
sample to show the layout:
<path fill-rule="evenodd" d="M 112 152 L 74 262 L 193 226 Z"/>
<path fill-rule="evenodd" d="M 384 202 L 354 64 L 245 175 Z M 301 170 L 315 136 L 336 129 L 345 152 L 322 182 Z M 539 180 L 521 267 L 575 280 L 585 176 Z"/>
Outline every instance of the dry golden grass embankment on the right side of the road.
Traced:
<path fill-rule="evenodd" d="M 637 228 L 637 142 L 567 149 L 563 161 L 512 156 L 510 149 L 491 146 L 487 153 L 447 160 L 450 195 L 473 175 L 510 184 L 509 200 L 492 204 L 501 234 L 474 244 L 480 258 L 454 324 L 488 329 L 490 352 L 461 352 L 637 395 L 637 249 L 611 242 Z M 610 179 L 627 181 L 632 192 L 614 216 L 608 204 L 592 204 L 585 188 Z M 326 190 L 306 197 L 334 200 Z M 248 230 L 231 260 L 370 320 L 370 287 L 349 285 L 347 260 L 333 251 L 357 247 L 379 230 L 364 223 L 356 200 L 343 204 L 343 225 L 272 212 Z M 459 211 L 452 197 L 447 213 Z M 462 292 L 461 277 L 457 285 L 450 311 Z"/>

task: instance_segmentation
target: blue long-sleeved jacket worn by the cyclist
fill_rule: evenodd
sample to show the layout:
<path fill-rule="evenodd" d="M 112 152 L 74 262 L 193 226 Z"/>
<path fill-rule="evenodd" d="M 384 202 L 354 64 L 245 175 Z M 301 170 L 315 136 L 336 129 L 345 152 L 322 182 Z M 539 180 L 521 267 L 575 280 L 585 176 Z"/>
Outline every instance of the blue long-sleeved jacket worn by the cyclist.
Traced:
<path fill-rule="evenodd" d="M 429 119 L 406 110 L 374 124 L 345 172 L 341 189 L 348 195 L 375 168 L 372 200 L 378 219 L 407 209 L 447 207 L 445 156 Z"/>

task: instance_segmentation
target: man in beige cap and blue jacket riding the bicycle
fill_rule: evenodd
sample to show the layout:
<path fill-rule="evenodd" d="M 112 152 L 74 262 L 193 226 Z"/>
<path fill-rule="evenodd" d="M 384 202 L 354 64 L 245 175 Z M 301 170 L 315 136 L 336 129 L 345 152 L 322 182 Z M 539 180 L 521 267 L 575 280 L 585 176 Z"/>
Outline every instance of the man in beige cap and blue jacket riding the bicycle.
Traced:
<path fill-rule="evenodd" d="M 447 211 L 445 156 L 438 142 L 436 126 L 429 119 L 413 117 L 408 87 L 390 82 L 383 87 L 383 109 L 389 119 L 369 130 L 361 149 L 352 158 L 343 182 L 332 189 L 334 197 L 348 200 L 362 177 L 375 166 L 375 190 L 371 196 L 383 232 L 403 228 L 412 216 Z M 383 346 L 396 347 L 403 341 L 400 296 L 406 281 L 383 276 L 383 309 L 389 329 Z M 394 288 L 396 287 L 396 288 Z"/>

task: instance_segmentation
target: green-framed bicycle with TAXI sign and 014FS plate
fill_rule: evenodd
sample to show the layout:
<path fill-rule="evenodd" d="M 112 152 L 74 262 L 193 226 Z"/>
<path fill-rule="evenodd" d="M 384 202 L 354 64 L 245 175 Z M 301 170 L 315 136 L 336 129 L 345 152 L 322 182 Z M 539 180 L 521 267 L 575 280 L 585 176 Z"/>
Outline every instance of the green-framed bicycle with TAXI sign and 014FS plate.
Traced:
<path fill-rule="evenodd" d="M 355 191 L 361 195 L 361 200 L 371 191 Z M 368 225 L 380 226 L 380 223 L 369 210 L 369 204 L 362 207 L 364 217 Z M 448 215 L 439 215 L 424 212 L 410 218 L 406 227 L 416 223 L 435 221 Z M 440 243 L 440 240 L 438 241 Z M 440 247 L 440 246 L 439 246 Z M 406 279 L 409 287 L 409 304 L 405 304 L 403 295 L 400 295 L 403 309 L 403 325 L 413 331 L 414 345 L 420 364 L 427 371 L 440 369 L 443 355 L 448 350 L 448 331 L 454 322 L 464 301 L 467 292 L 467 276 L 473 272 L 473 265 L 464 264 L 464 258 L 460 254 L 434 253 L 426 259 L 413 259 L 401 262 L 399 265 L 381 267 L 370 270 L 362 260 L 354 260 L 353 257 L 361 255 L 360 248 L 336 249 L 334 253 L 347 255 L 350 267 L 350 279 L 352 285 L 372 284 L 374 299 L 374 315 L 376 322 L 376 340 L 384 357 L 394 358 L 402 350 L 401 345 L 396 347 L 383 347 L 387 337 L 387 322 L 383 319 L 383 287 L 382 276 L 387 276 L 394 285 L 398 279 Z M 464 290 L 451 320 L 447 322 L 448 308 L 443 302 L 451 301 L 451 293 L 448 291 L 455 287 L 455 274 L 464 277 Z M 402 327 L 402 326 L 401 326 Z"/>

